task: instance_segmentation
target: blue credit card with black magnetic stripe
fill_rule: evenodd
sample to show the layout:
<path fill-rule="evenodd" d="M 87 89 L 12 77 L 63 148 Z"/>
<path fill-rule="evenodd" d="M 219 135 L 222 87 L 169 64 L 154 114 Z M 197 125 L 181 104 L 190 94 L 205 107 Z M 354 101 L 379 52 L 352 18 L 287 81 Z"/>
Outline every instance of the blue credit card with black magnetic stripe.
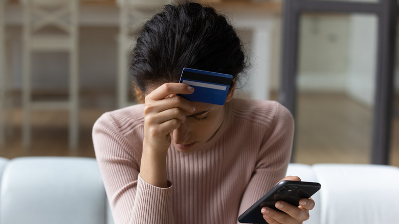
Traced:
<path fill-rule="evenodd" d="M 180 83 L 194 87 L 192 94 L 178 94 L 190 101 L 224 105 L 232 75 L 184 68 Z"/>

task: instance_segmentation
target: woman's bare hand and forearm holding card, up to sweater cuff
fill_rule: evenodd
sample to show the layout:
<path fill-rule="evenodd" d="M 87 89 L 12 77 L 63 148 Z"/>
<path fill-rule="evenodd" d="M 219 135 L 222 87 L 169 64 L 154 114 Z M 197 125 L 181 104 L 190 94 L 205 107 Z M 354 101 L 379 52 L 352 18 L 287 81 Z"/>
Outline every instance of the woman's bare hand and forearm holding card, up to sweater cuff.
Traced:
<path fill-rule="evenodd" d="M 183 83 L 165 83 L 145 97 L 144 142 L 141 178 L 157 187 L 168 187 L 166 155 L 171 144 L 170 132 L 179 128 L 186 114 L 194 112 L 191 101 L 176 94 L 191 94 L 194 88 Z"/>

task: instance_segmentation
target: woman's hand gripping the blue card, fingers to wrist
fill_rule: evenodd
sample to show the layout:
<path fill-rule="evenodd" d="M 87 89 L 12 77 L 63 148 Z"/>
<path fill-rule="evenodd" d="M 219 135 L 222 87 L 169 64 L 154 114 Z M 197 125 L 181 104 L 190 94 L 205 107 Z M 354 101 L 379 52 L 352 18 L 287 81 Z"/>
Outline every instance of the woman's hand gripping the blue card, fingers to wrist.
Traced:
<path fill-rule="evenodd" d="M 195 111 L 192 102 L 176 96 L 191 94 L 194 88 L 183 83 L 164 83 L 145 97 L 144 145 L 146 150 L 164 154 L 170 144 L 170 132 Z M 143 148 L 144 150 L 144 148 Z"/>

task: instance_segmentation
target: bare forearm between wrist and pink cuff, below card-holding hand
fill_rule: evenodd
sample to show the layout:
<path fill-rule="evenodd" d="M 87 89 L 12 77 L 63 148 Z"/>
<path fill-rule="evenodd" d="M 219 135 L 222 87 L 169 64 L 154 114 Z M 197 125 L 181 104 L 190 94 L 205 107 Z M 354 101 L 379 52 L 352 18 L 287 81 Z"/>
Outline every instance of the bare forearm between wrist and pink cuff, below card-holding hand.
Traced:
<path fill-rule="evenodd" d="M 140 165 L 140 176 L 143 181 L 160 188 L 169 187 L 166 171 L 166 154 L 167 151 L 154 151 L 144 141 Z"/>

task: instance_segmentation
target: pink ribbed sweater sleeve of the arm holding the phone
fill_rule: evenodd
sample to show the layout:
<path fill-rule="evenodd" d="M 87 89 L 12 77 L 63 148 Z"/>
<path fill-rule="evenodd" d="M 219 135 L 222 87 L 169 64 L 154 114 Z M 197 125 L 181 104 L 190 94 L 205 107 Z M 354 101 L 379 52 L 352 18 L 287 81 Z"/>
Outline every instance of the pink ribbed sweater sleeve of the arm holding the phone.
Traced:
<path fill-rule="evenodd" d="M 238 215 L 285 176 L 290 162 L 294 119 L 288 109 L 277 102 L 276 104 L 273 122 L 262 141 L 255 169 L 241 199 Z"/>

